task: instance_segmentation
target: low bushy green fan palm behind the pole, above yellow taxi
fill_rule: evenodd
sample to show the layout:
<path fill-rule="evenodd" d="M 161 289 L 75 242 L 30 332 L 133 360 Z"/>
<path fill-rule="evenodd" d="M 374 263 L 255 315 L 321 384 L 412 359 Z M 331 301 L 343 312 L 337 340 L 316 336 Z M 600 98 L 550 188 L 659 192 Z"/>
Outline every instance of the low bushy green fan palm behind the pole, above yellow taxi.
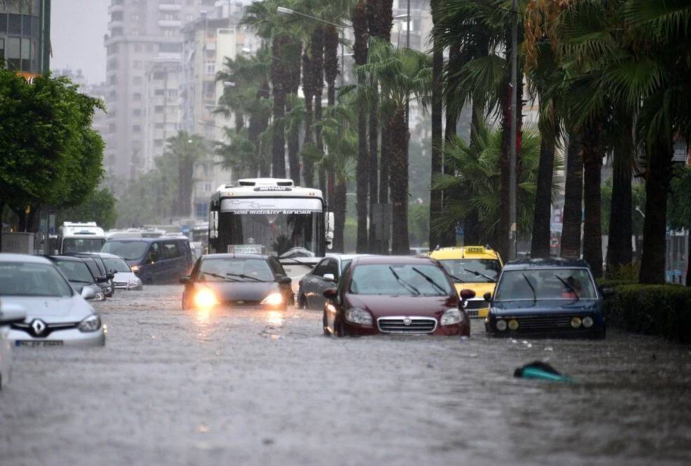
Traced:
<path fill-rule="evenodd" d="M 433 178 L 433 190 L 463 193 L 463 197 L 454 196 L 445 202 L 442 215 L 431 225 L 435 230 L 453 230 L 456 224 L 464 222 L 468 215 L 479 213 L 480 236 L 482 243 L 494 243 L 498 234 L 498 214 L 500 209 L 502 132 L 501 129 L 489 129 L 484 120 L 477 122 L 473 140 L 466 142 L 459 136 L 453 136 L 444 146 L 445 165 L 455 174 L 436 174 Z M 531 230 L 535 190 L 538 178 L 540 136 L 532 127 L 523 129 L 523 157 L 521 157 L 521 178 L 518 187 L 519 196 L 518 228 L 521 234 Z M 561 169 L 561 160 L 557 159 L 557 169 Z M 557 190 L 561 179 L 552 174 L 550 189 Z"/>

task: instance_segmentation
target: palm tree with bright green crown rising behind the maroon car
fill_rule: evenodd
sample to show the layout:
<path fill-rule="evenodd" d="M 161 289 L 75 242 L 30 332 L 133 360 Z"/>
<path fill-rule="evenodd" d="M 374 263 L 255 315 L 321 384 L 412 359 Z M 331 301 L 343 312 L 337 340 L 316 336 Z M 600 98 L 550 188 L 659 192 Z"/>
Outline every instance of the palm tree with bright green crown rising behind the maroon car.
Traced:
<path fill-rule="evenodd" d="M 431 62 L 428 56 L 417 50 L 395 49 L 389 41 L 372 41 L 368 64 L 358 66 L 358 78 L 382 83 L 382 89 L 389 112 L 391 137 L 391 201 L 392 218 L 396 219 L 391 231 L 391 253 L 407 254 L 408 241 L 408 140 L 410 132 L 405 118 L 405 108 L 411 101 L 417 101 L 421 108 L 430 99 L 432 79 Z"/>

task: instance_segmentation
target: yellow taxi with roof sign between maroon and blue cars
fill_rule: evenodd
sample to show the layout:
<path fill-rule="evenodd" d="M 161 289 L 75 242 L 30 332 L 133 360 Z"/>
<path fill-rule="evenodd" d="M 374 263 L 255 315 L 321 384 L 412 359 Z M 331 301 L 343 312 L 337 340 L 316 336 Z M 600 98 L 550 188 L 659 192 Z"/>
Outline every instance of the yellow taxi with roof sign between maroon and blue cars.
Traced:
<path fill-rule="evenodd" d="M 428 257 L 445 267 L 456 285 L 456 292 L 475 291 L 475 297 L 466 302 L 466 312 L 471 317 L 487 316 L 484 294 L 494 293 L 494 285 L 501 273 L 501 257 L 495 250 L 484 246 L 437 248 Z"/>

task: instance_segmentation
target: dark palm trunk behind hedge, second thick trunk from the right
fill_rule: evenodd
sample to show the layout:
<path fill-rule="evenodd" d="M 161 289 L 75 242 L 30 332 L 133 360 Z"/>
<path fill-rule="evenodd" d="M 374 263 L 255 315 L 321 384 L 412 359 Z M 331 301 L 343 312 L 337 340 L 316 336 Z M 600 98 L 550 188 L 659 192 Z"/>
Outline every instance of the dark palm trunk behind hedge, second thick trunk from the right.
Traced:
<path fill-rule="evenodd" d="M 631 127 L 629 126 L 629 130 Z M 607 274 L 617 267 L 630 264 L 634 258 L 633 206 L 631 202 L 631 146 L 620 143 L 614 148 L 612 170 L 612 201 L 610 204 L 609 238 L 607 243 Z"/>

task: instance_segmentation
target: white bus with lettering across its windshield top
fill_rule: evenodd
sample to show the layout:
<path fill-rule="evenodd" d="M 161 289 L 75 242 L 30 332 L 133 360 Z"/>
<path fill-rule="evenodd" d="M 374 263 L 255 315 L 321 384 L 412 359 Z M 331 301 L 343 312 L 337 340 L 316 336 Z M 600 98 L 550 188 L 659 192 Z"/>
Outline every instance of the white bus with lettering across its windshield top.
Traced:
<path fill-rule="evenodd" d="M 333 213 L 320 190 L 280 178 L 221 185 L 209 203 L 209 253 L 274 255 L 291 278 L 306 274 L 331 248 Z"/>

